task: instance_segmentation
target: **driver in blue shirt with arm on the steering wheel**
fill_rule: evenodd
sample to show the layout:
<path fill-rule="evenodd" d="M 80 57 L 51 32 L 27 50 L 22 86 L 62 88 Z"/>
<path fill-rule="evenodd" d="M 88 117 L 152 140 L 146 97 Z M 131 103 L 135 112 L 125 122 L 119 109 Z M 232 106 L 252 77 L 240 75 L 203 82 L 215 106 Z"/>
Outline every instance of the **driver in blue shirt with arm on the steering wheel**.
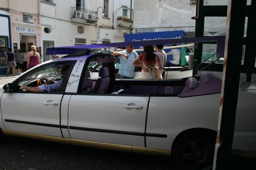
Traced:
<path fill-rule="evenodd" d="M 63 77 L 66 76 L 67 71 L 69 69 L 69 66 L 63 66 L 61 69 L 61 73 Z M 52 91 L 57 91 L 60 89 L 61 83 L 63 79 L 57 81 L 54 84 L 46 84 L 46 85 L 40 85 L 36 87 L 28 87 L 28 86 L 21 86 L 20 90 L 26 90 L 26 91 L 32 91 L 32 92 L 52 92 Z"/>

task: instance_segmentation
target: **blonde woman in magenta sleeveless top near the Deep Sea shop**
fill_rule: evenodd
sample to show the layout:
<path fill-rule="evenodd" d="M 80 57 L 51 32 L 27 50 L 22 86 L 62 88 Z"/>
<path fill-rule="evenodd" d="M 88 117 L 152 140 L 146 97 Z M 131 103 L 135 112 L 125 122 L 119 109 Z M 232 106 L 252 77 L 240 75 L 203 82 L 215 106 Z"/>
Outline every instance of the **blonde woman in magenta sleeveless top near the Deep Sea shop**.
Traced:
<path fill-rule="evenodd" d="M 36 46 L 31 46 L 31 51 L 28 52 L 27 57 L 27 69 L 31 69 L 32 67 L 41 63 L 40 54 L 36 52 Z"/>

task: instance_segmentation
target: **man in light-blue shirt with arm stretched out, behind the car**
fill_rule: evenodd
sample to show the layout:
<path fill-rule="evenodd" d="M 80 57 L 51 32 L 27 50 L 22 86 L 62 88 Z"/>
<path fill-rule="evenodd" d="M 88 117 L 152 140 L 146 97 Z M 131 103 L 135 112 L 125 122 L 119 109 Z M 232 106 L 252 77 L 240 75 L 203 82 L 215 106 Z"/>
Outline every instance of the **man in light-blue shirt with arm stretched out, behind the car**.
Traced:
<path fill-rule="evenodd" d="M 133 50 L 133 46 L 127 46 L 125 51 L 114 52 L 113 55 L 119 55 L 118 79 L 133 79 L 135 66 L 132 65 L 132 61 L 138 57 L 137 52 Z"/>

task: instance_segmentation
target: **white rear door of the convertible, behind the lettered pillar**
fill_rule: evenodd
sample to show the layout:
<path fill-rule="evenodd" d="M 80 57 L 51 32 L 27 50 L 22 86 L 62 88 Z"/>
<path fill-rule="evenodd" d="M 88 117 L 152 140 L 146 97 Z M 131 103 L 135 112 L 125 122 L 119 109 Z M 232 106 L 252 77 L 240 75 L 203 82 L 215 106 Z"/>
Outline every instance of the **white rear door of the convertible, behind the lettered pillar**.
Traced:
<path fill-rule="evenodd" d="M 68 111 L 69 127 L 86 128 L 87 131 L 69 128 L 70 136 L 73 139 L 144 147 L 148 99 L 137 96 L 72 96 Z M 134 105 L 141 108 L 125 108 Z M 140 135 L 124 135 L 118 131 Z"/>

